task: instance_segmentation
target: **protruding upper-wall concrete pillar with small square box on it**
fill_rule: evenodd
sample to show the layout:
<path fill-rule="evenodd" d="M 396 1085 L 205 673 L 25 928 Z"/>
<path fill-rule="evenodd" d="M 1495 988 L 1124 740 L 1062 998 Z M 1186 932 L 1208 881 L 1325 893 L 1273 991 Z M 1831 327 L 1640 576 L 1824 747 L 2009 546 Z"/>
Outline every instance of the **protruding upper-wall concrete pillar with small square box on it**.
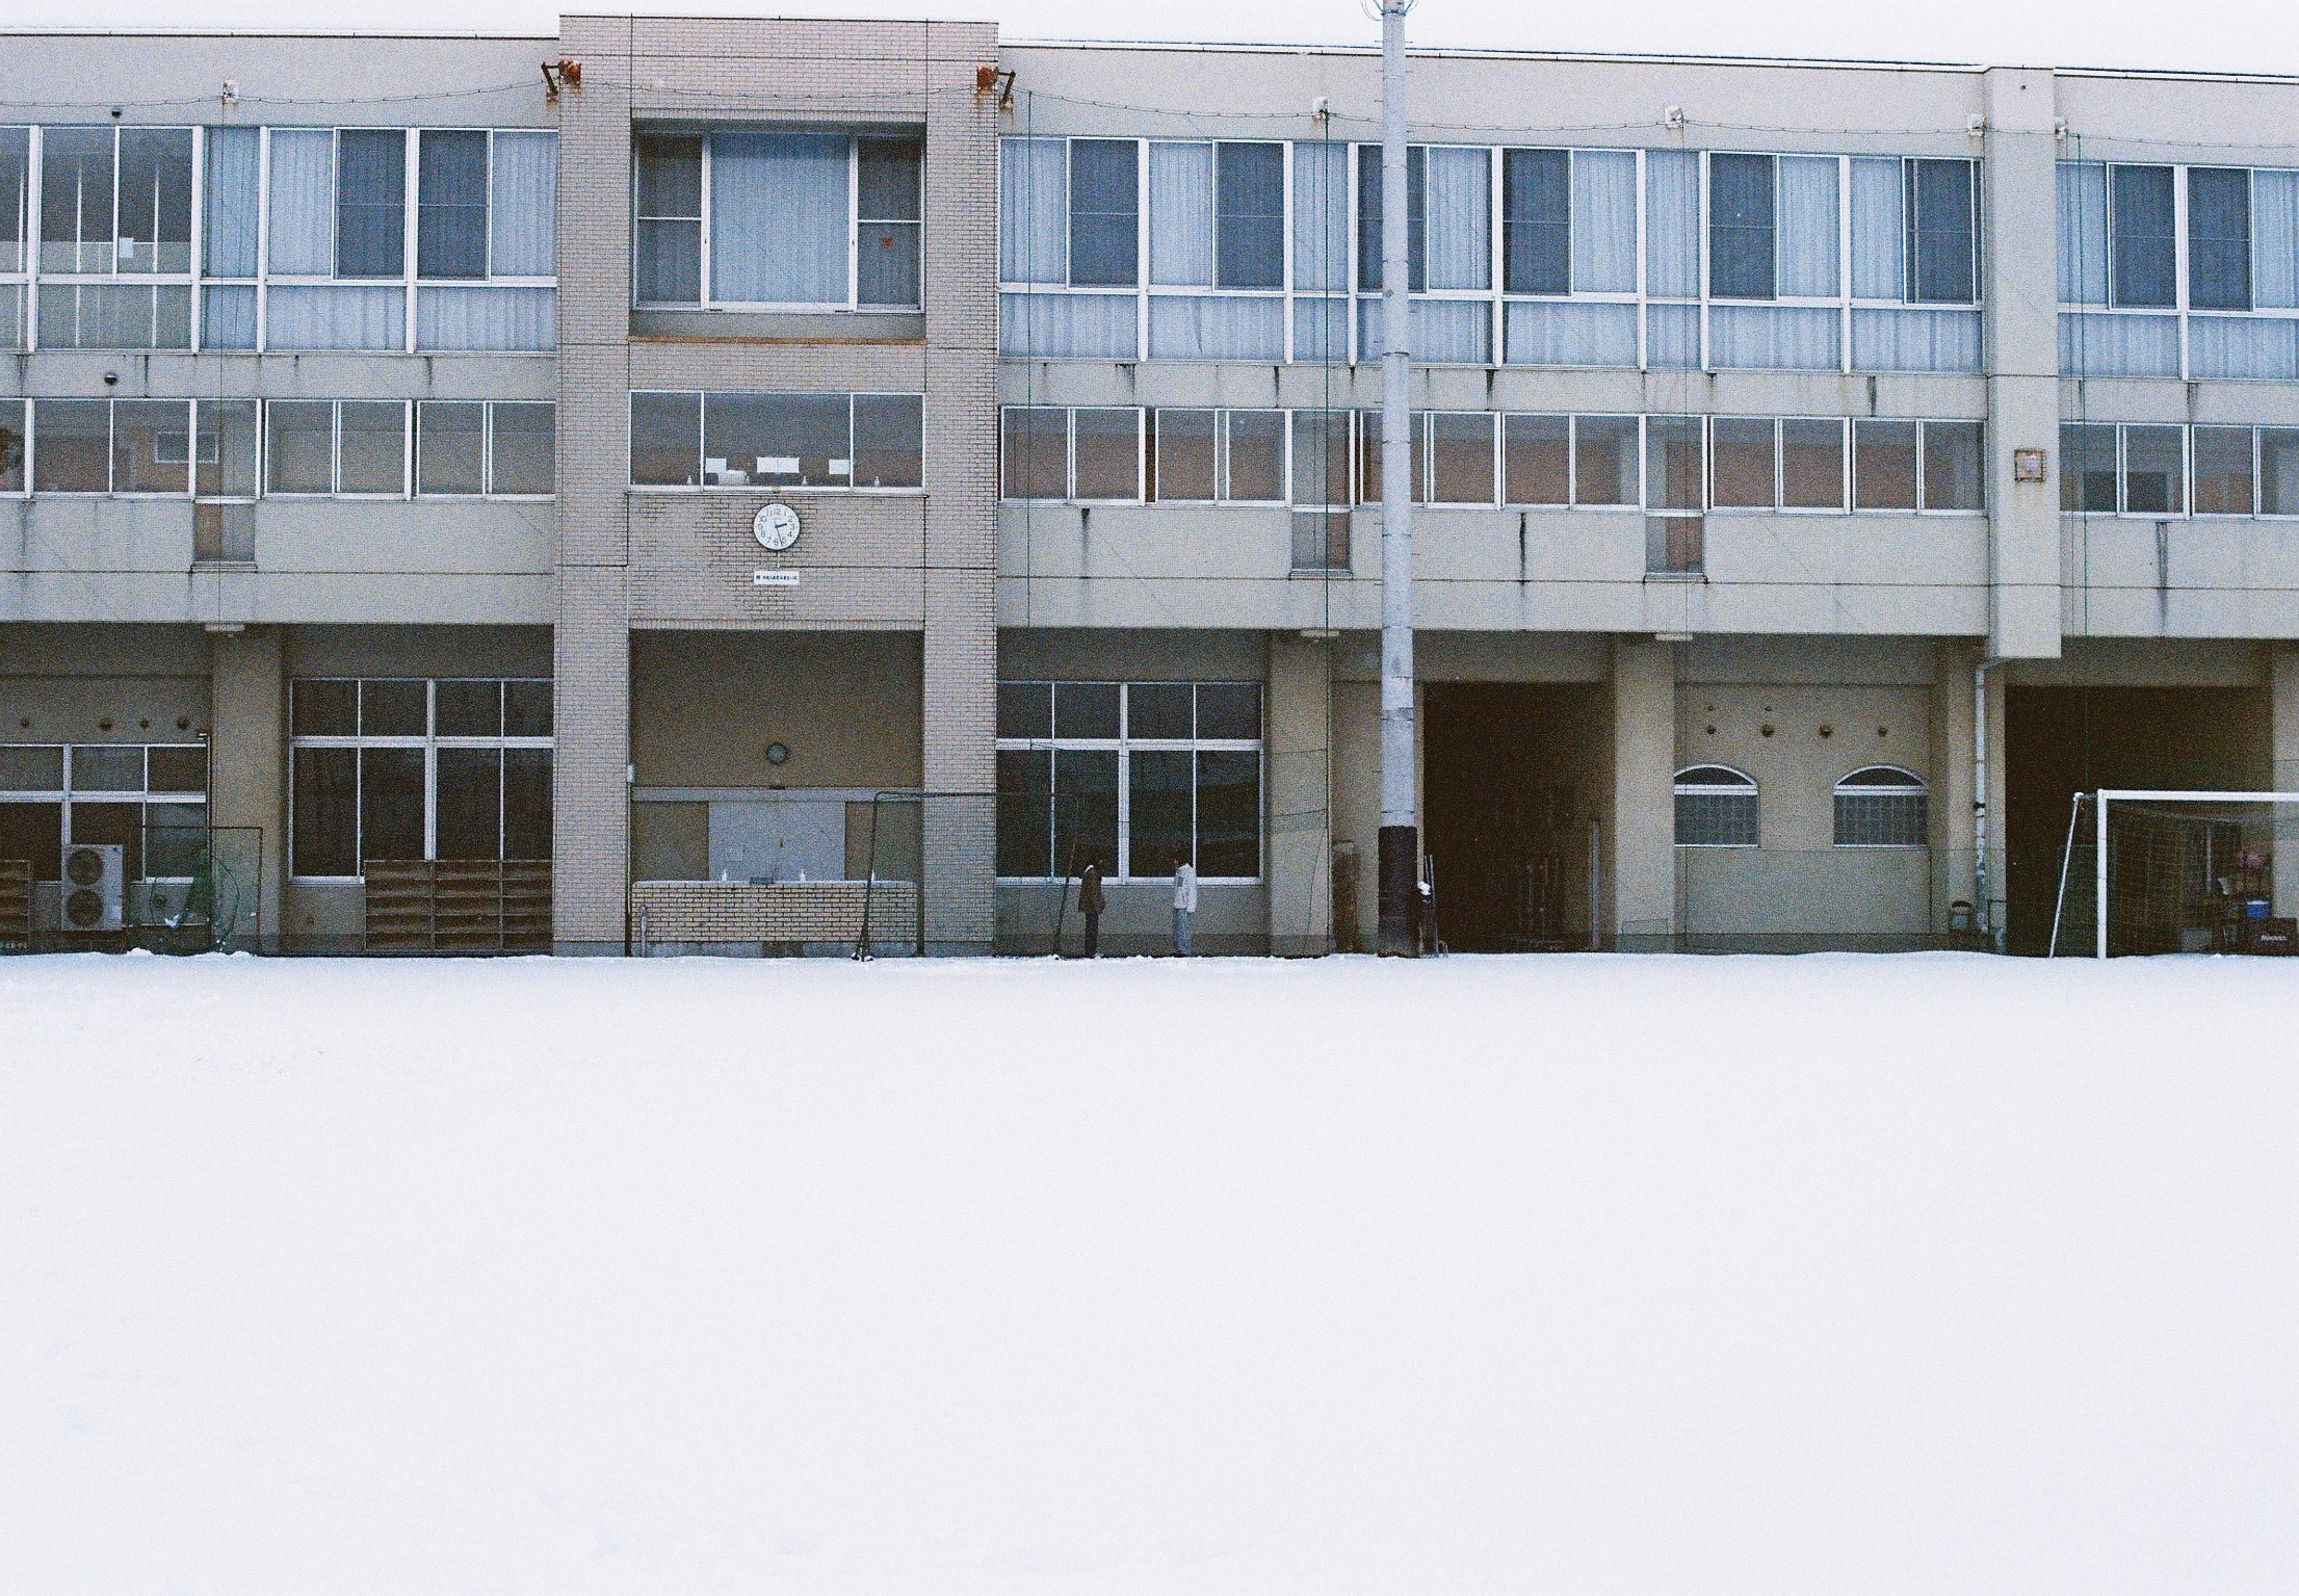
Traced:
<path fill-rule="evenodd" d="M 2051 71 L 1986 78 L 1979 299 L 1989 373 L 1989 653 L 2060 655 L 2060 320 L 2058 264 L 2037 232 L 2058 205 L 2058 99 Z M 2042 481 L 2019 481 L 2042 451 Z"/>

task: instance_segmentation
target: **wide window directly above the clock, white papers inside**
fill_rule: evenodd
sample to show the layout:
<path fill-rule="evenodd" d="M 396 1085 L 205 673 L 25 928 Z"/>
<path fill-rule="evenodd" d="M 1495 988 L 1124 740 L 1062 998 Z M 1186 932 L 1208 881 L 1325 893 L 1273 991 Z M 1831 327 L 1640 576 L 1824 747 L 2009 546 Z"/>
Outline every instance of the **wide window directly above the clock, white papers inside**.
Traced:
<path fill-rule="evenodd" d="M 635 488 L 917 488 L 915 393 L 632 393 Z"/>

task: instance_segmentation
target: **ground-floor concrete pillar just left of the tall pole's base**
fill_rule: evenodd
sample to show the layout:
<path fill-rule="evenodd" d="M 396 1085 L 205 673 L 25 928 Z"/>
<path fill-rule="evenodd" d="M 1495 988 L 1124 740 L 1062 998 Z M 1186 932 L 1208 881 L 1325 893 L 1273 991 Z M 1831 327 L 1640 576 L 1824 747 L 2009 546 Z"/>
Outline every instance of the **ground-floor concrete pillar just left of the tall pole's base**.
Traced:
<path fill-rule="evenodd" d="M 1327 642 L 1269 635 L 1269 952 L 1333 950 L 1331 724 Z"/>

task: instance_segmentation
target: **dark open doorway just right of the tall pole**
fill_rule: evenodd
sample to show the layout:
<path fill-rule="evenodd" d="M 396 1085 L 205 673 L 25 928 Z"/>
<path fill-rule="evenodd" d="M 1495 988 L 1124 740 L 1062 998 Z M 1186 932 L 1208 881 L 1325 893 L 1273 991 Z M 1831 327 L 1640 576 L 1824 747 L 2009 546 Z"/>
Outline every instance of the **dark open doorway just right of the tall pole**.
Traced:
<path fill-rule="evenodd" d="M 1589 945 L 1596 688 L 1432 683 L 1423 796 L 1437 934 L 1458 952 Z"/>

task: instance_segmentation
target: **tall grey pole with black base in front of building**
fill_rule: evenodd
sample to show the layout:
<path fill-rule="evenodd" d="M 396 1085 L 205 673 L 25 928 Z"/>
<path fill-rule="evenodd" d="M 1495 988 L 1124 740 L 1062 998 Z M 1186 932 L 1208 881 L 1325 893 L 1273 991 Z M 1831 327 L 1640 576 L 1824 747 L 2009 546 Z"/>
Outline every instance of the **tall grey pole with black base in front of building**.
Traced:
<path fill-rule="evenodd" d="M 1407 301 L 1405 14 L 1382 7 L 1382 858 L 1384 954 L 1421 952 L 1421 823 L 1414 782 L 1414 446 Z"/>

